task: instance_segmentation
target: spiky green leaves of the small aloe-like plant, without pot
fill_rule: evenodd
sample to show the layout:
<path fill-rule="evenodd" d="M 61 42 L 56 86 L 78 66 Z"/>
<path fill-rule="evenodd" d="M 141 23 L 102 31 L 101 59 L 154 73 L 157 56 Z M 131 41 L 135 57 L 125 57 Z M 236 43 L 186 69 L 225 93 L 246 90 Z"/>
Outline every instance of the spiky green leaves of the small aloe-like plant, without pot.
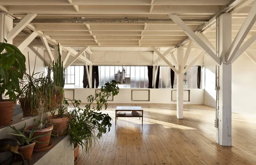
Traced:
<path fill-rule="evenodd" d="M 33 142 L 36 142 L 36 143 L 43 143 L 43 142 L 37 142 L 35 141 L 36 138 L 39 138 L 39 137 L 42 137 L 42 136 L 48 136 L 50 134 L 45 134 L 45 135 L 38 135 L 38 136 L 35 136 L 35 137 L 32 137 L 34 132 L 36 130 L 38 130 L 38 127 L 40 126 L 40 124 L 38 124 L 36 127 L 34 127 L 31 132 L 29 133 L 29 135 L 27 136 L 25 134 L 25 127 L 26 127 L 26 123 L 24 125 L 24 128 L 22 131 L 20 130 L 17 130 L 14 126 L 9 126 L 10 128 L 12 128 L 13 130 L 15 130 L 16 133 L 8 133 L 8 134 L 11 134 L 11 135 L 15 135 L 15 136 L 18 136 L 18 139 L 19 139 L 19 142 L 20 142 L 20 145 L 30 145 L 31 143 Z"/>

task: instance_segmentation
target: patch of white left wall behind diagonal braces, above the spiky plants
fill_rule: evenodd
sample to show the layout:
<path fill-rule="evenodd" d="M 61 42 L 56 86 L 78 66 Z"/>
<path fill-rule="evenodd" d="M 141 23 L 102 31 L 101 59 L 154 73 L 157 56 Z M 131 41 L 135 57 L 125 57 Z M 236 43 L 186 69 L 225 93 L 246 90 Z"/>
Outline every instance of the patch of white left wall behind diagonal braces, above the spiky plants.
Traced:
<path fill-rule="evenodd" d="M 41 54 L 44 54 L 44 49 L 40 48 L 40 47 L 34 47 L 36 50 L 38 48 L 38 52 Z M 29 52 L 29 59 L 28 59 L 28 52 Z M 30 63 L 30 72 L 32 75 L 32 72 L 35 68 L 35 73 L 36 72 L 44 72 L 44 62 L 41 61 L 40 58 L 36 58 L 35 60 L 35 53 L 29 49 L 28 47 L 26 47 L 26 49 L 23 50 L 23 55 L 25 55 L 26 57 L 26 72 L 29 74 L 29 63 Z"/>

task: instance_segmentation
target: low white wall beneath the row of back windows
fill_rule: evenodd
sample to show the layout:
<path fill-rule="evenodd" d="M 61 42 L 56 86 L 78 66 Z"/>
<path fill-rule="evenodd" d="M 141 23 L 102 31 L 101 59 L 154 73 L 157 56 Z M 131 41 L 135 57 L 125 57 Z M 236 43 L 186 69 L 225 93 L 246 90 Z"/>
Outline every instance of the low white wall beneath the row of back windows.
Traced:
<path fill-rule="evenodd" d="M 65 89 L 71 90 L 71 89 Z M 75 88 L 75 99 L 81 100 L 82 103 L 87 103 L 87 96 L 95 94 L 96 89 L 92 88 Z M 131 101 L 131 90 L 150 90 L 150 101 Z M 184 101 L 184 104 L 203 104 L 204 102 L 204 89 L 189 89 L 190 101 Z M 119 94 L 114 97 L 113 101 L 109 103 L 120 104 L 136 104 L 136 103 L 160 103 L 160 104 L 176 104 L 176 101 L 171 101 L 172 89 L 120 89 Z M 148 97 L 148 93 L 145 91 L 136 91 L 136 99 L 141 100 Z M 67 98 L 72 98 L 73 93 L 68 91 Z M 175 97 L 175 96 L 173 96 Z M 186 95 L 184 96 L 186 97 Z M 133 98 L 134 99 L 134 98 Z"/>

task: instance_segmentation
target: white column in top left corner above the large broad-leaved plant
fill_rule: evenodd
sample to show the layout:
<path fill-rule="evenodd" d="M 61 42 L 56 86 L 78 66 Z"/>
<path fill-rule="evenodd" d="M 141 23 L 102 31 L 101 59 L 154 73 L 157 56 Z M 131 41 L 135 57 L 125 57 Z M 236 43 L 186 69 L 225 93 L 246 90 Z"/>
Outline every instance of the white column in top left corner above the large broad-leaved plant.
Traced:
<path fill-rule="evenodd" d="M 6 39 L 8 42 L 12 44 L 12 39 L 8 40 L 8 33 L 13 28 L 13 19 L 6 15 L 5 13 L 0 12 L 0 42 L 4 42 L 4 39 Z"/>

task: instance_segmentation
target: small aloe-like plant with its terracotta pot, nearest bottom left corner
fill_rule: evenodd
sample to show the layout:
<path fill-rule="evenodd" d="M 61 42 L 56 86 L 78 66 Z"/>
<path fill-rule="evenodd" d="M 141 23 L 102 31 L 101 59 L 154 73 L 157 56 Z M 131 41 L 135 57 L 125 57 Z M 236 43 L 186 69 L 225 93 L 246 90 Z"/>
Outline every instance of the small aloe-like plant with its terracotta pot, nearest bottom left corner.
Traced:
<path fill-rule="evenodd" d="M 38 129 L 39 126 L 40 124 L 34 127 L 29 133 L 29 135 L 26 135 L 25 133 L 26 123 L 22 131 L 17 130 L 14 126 L 10 126 L 15 131 L 15 133 L 8 133 L 8 134 L 18 136 L 18 139 L 20 142 L 18 151 L 22 153 L 23 158 L 25 160 L 32 158 L 32 152 L 33 152 L 35 143 L 41 143 L 41 142 L 37 142 L 35 139 L 38 137 L 47 136 L 47 135 L 39 135 L 39 136 L 33 137 L 34 132 Z"/>

